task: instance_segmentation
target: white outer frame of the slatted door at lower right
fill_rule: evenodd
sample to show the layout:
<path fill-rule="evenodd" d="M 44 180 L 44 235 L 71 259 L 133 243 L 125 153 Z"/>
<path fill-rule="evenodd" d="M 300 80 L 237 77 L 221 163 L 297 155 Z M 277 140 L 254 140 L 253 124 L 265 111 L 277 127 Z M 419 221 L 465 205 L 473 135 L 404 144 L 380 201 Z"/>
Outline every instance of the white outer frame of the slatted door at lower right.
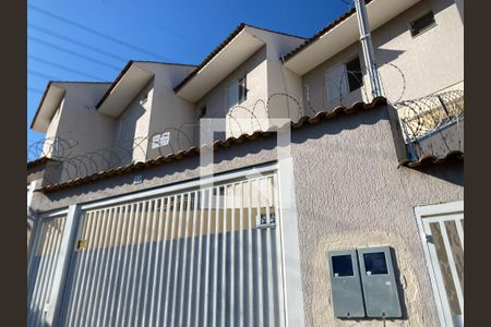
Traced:
<path fill-rule="evenodd" d="M 430 251 L 427 240 L 427 233 L 424 232 L 423 220 L 433 219 L 429 217 L 448 216 L 448 215 L 463 215 L 464 201 L 456 201 L 435 205 L 418 206 L 414 208 L 416 215 L 416 222 L 418 225 L 419 234 L 423 244 L 424 258 L 427 262 L 427 269 L 430 276 L 431 288 L 433 291 L 434 302 L 436 304 L 436 312 L 439 315 L 441 326 L 454 326 L 453 317 L 448 308 L 448 300 L 443 286 L 441 276 L 434 274 L 433 263 L 438 262 L 434 254 Z M 464 241 L 464 239 L 462 239 Z M 464 246 L 464 243 L 463 243 Z M 443 290 L 443 292 L 442 292 Z M 464 313 L 463 313 L 464 314 Z M 450 325 L 448 325 L 450 324 Z"/>

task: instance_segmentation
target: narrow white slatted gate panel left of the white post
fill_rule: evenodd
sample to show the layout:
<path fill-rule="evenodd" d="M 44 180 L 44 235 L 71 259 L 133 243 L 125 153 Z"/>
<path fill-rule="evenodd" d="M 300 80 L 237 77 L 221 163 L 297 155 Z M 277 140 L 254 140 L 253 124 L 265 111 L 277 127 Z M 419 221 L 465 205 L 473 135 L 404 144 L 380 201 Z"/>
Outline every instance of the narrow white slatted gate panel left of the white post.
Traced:
<path fill-rule="evenodd" d="M 44 326 L 67 216 L 46 218 L 38 227 L 27 272 L 27 326 Z"/>

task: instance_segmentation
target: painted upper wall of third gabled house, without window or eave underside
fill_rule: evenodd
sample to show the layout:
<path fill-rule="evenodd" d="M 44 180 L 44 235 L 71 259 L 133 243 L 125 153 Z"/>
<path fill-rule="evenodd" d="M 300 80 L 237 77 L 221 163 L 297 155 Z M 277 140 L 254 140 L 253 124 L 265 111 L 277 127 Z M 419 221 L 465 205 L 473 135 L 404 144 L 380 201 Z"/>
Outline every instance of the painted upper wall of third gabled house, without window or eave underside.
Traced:
<path fill-rule="evenodd" d="M 284 69 L 279 58 L 303 39 L 251 26 L 246 28 L 262 39 L 265 46 L 196 102 L 196 112 L 206 105 L 205 118 L 224 118 L 228 114 L 226 137 L 266 130 L 268 124 L 261 119 L 290 117 L 298 120 L 302 114 L 298 105 L 301 102 L 300 76 Z M 229 111 L 226 108 L 227 85 L 246 74 L 247 100 Z"/>

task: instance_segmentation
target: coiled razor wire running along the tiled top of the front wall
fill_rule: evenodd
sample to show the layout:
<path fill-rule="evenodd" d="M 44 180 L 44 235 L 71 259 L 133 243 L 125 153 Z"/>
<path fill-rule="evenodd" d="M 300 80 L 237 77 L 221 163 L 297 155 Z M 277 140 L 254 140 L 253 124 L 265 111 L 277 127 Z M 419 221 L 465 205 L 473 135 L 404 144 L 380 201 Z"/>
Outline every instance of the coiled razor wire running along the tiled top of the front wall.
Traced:
<path fill-rule="evenodd" d="M 415 106 L 417 106 L 415 104 L 420 104 L 421 99 L 399 101 L 406 89 L 406 77 L 403 71 L 392 63 L 385 64 L 385 66 L 394 69 L 397 74 L 400 74 L 402 78 L 402 94 L 392 102 L 397 108 L 404 106 L 411 108 L 408 109 L 411 112 L 421 111 L 420 109 L 415 109 Z M 349 88 L 350 78 L 359 87 L 351 90 Z M 328 94 L 332 96 L 331 98 Z M 442 95 L 441 100 L 448 102 L 448 97 L 451 97 L 451 94 Z M 312 100 L 313 98 L 314 100 Z M 370 99 L 371 97 L 363 82 L 362 71 L 350 71 L 345 66 L 343 74 L 338 78 L 326 75 L 322 83 L 315 83 L 315 87 L 304 85 L 301 89 L 288 93 L 274 93 L 265 99 L 251 100 L 246 98 L 244 101 L 229 109 L 215 108 L 218 110 L 207 112 L 203 118 L 223 119 L 225 117 L 227 131 L 225 136 L 214 136 L 215 140 L 225 141 L 228 137 L 239 137 L 258 131 L 268 131 L 272 126 L 270 124 L 266 125 L 266 123 L 272 118 L 289 118 L 292 122 L 298 122 L 302 117 L 312 117 L 321 111 L 328 112 L 339 106 L 350 107 L 355 101 L 368 101 Z M 420 117 L 418 118 L 418 114 L 412 116 L 416 117 L 414 118 L 415 121 L 421 120 Z M 248 121 L 248 123 L 244 123 L 244 121 Z M 440 122 L 440 124 L 442 123 Z M 422 133 L 423 125 L 422 123 L 410 123 L 407 128 L 411 132 L 410 135 L 412 135 L 409 138 L 414 141 L 419 135 L 418 133 Z M 182 123 L 178 126 L 166 126 L 151 135 L 134 137 L 128 142 L 115 140 L 108 147 L 89 152 L 81 152 L 79 143 L 75 141 L 48 137 L 32 144 L 27 153 L 29 161 L 39 157 L 50 157 L 61 161 L 61 172 L 59 175 L 53 174 L 51 182 L 59 183 L 127 167 L 135 162 L 187 152 L 201 145 L 199 136 L 200 122 L 197 121 Z"/>

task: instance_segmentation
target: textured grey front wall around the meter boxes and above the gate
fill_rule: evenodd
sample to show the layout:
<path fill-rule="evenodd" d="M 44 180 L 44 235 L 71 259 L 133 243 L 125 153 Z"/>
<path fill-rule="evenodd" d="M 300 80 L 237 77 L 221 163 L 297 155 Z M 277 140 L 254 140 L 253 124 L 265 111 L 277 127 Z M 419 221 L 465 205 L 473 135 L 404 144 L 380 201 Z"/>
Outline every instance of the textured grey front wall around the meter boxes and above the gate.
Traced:
<path fill-rule="evenodd" d="M 438 325 L 412 207 L 463 199 L 463 165 L 397 169 L 392 133 L 386 107 L 292 131 L 306 326 L 352 325 L 333 317 L 326 252 L 368 245 L 395 249 L 408 313 L 395 325 Z M 220 149 L 216 171 L 275 160 L 275 143 L 270 137 Z M 196 178 L 199 162 L 192 157 L 136 172 L 144 182 L 135 185 L 129 173 L 47 195 L 36 192 L 33 204 L 49 210 L 177 183 Z"/>

